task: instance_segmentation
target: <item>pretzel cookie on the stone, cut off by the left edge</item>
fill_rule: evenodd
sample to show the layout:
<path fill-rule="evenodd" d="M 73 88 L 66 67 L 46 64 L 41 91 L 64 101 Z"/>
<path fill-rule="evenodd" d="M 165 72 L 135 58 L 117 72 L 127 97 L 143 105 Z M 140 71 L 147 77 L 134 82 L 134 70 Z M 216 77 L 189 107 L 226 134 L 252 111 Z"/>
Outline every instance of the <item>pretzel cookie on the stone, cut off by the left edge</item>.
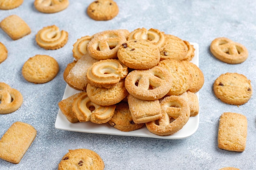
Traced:
<path fill-rule="evenodd" d="M 0 82 L 0 114 L 12 113 L 20 108 L 22 94 L 8 84 Z"/>

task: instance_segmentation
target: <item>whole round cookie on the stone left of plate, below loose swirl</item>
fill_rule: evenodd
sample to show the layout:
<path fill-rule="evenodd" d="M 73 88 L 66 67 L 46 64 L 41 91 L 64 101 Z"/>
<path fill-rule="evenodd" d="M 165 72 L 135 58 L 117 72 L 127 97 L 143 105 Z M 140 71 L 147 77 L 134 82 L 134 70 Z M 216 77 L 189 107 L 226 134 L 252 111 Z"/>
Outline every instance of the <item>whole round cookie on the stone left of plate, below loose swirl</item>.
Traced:
<path fill-rule="evenodd" d="M 49 55 L 30 57 L 22 67 L 22 75 L 34 84 L 46 83 L 54 79 L 59 71 L 58 62 Z"/>

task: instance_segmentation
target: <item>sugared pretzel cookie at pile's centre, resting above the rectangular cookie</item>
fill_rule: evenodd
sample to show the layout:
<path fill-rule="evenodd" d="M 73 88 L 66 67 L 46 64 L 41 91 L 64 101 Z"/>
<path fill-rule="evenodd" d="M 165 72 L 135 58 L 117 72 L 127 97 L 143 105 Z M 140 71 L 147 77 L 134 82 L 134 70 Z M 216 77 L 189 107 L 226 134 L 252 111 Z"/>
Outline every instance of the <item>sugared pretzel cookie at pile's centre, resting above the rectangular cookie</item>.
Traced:
<path fill-rule="evenodd" d="M 125 79 L 127 91 L 141 100 L 164 97 L 171 88 L 171 74 L 159 66 L 147 70 L 131 71 Z"/>

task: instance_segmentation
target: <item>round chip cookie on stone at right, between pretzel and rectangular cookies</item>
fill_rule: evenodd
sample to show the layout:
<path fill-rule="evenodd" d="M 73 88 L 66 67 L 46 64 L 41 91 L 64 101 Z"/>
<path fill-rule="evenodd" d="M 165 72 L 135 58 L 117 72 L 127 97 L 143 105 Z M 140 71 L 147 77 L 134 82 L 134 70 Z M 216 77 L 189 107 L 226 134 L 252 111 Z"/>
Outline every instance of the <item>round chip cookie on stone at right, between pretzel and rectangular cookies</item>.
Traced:
<path fill-rule="evenodd" d="M 243 105 L 252 96 L 251 81 L 238 73 L 220 75 L 213 84 L 213 91 L 222 102 L 234 105 Z"/>

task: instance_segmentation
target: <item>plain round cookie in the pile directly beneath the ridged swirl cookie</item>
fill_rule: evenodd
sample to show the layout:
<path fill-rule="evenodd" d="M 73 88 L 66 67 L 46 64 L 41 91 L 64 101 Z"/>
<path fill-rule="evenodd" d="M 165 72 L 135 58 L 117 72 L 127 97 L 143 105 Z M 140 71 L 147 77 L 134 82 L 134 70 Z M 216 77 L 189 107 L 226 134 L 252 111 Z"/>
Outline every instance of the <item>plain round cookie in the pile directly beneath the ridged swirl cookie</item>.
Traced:
<path fill-rule="evenodd" d="M 128 95 L 124 86 L 124 79 L 120 80 L 117 84 L 112 85 L 110 88 L 96 87 L 88 84 L 86 92 L 93 103 L 101 106 L 117 104 Z"/>

